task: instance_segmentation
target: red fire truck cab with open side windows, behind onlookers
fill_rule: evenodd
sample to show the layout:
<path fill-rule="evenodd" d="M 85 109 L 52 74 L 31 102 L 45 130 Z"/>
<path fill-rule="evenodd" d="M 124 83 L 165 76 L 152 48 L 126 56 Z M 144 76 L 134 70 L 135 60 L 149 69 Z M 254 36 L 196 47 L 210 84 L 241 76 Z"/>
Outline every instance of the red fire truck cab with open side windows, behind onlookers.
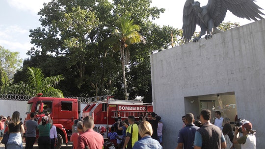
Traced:
<path fill-rule="evenodd" d="M 58 143 L 55 149 L 60 149 L 63 142 L 67 145 L 72 135 L 74 120 L 79 119 L 80 102 L 78 99 L 33 97 L 28 100 L 27 104 L 26 120 L 29 120 L 30 113 L 34 112 L 36 114 L 35 120 L 39 124 L 42 117 L 49 113 L 58 135 Z"/>

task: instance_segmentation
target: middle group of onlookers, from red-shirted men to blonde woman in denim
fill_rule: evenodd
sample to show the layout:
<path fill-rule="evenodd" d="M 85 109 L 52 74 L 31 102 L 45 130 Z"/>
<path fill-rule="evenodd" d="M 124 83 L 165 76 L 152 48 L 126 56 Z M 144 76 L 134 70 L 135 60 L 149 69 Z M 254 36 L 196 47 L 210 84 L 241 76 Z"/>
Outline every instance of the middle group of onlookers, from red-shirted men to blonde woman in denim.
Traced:
<path fill-rule="evenodd" d="M 106 142 L 103 133 L 94 131 L 97 129 L 94 127 L 93 117 L 85 117 L 76 126 L 77 132 L 71 136 L 73 149 L 108 149 L 111 146 L 115 149 L 162 149 L 163 124 L 161 117 L 155 112 L 140 116 L 138 121 L 134 116 L 125 120 L 116 118 L 107 134 Z M 99 127 L 99 132 L 101 129 Z"/>

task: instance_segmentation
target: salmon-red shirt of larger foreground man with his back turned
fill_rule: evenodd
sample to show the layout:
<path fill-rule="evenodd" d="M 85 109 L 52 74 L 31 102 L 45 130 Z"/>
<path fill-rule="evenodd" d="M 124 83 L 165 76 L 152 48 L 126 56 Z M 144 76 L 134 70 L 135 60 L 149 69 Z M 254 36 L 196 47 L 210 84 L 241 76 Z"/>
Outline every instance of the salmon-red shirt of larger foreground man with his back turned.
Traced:
<path fill-rule="evenodd" d="M 89 149 L 102 149 L 104 139 L 100 133 L 88 129 L 78 137 L 78 142 L 77 149 L 85 149 L 85 146 L 88 146 Z"/>

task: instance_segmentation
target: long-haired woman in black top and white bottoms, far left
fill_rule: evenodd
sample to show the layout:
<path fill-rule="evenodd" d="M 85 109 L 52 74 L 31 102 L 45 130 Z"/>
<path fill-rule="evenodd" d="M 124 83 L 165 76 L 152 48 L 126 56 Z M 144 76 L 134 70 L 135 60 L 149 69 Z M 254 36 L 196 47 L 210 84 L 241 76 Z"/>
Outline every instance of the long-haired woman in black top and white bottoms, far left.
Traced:
<path fill-rule="evenodd" d="M 25 129 L 20 121 L 20 113 L 15 111 L 8 124 L 9 139 L 6 149 L 23 149 L 21 132 L 25 133 Z"/>

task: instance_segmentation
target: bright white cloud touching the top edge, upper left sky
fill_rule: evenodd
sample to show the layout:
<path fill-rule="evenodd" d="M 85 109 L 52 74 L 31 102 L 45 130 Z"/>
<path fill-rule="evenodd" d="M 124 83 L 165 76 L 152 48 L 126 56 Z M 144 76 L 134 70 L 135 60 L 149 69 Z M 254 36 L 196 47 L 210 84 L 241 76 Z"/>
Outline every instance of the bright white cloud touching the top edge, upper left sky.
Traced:
<path fill-rule="evenodd" d="M 43 3 L 48 3 L 52 0 L 7 0 L 10 6 L 23 11 L 29 11 L 32 14 L 36 14 L 43 8 Z"/>

